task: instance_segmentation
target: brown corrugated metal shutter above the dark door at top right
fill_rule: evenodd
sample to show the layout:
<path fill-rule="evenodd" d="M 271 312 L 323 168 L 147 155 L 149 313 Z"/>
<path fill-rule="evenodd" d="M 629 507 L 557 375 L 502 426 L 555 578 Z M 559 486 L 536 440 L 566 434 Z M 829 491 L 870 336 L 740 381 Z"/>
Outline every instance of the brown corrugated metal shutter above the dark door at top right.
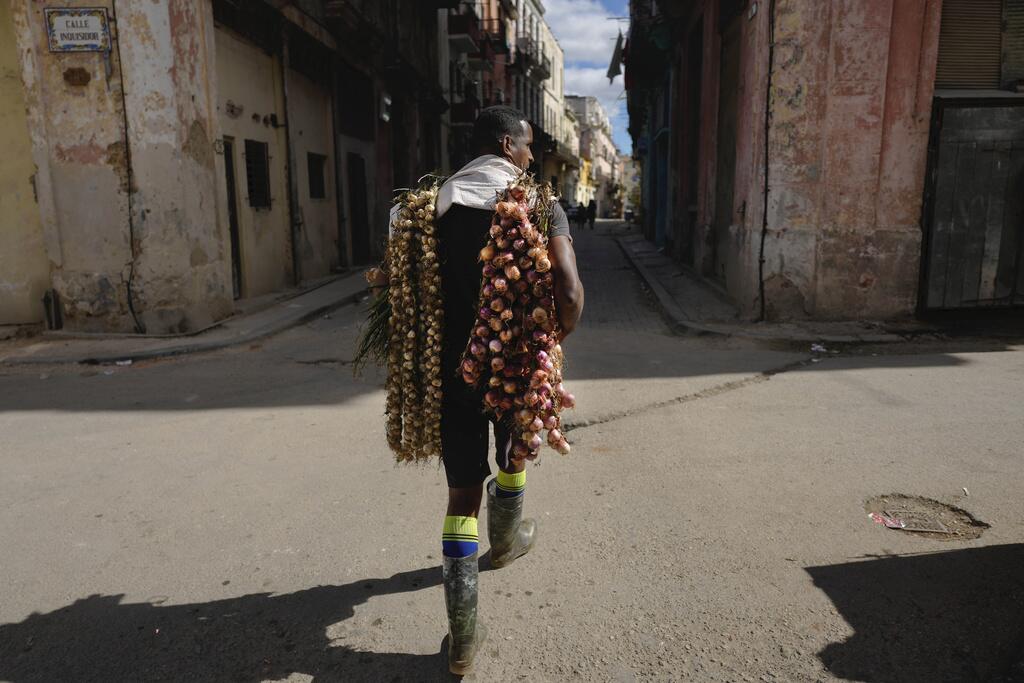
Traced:
<path fill-rule="evenodd" d="M 936 88 L 998 88 L 1002 0 L 943 0 Z"/>

